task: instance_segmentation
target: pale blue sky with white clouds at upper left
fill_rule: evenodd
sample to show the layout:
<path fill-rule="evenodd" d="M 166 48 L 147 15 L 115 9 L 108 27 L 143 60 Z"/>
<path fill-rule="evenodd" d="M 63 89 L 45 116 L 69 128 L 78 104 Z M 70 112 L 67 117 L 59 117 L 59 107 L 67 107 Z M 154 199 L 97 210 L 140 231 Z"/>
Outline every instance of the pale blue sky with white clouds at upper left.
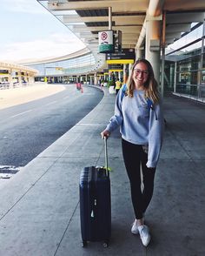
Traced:
<path fill-rule="evenodd" d="M 85 45 L 36 0 L 1 0 L 0 62 L 61 57 Z"/>

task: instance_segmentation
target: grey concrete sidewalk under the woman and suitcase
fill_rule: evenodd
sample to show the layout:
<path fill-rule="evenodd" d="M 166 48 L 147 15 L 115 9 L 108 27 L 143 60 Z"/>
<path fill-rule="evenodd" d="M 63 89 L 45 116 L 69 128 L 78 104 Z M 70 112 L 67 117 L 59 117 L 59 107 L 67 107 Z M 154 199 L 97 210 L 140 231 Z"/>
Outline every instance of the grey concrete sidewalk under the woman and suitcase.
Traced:
<path fill-rule="evenodd" d="M 86 87 L 84 88 L 86 90 Z M 124 170 L 119 131 L 108 140 L 112 238 L 81 246 L 78 184 L 86 165 L 104 165 L 104 129 L 115 95 L 100 104 L 0 188 L 0 255 L 96 256 L 205 255 L 205 106 L 165 98 L 168 127 L 146 214 L 147 248 L 130 232 L 134 212 Z"/>

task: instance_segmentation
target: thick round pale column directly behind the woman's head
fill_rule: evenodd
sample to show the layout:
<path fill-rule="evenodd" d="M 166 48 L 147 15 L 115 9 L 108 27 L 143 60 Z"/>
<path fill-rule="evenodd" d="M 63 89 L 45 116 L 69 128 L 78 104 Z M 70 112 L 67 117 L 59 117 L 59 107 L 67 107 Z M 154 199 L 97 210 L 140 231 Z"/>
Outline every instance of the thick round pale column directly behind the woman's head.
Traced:
<path fill-rule="evenodd" d="M 160 34 L 160 21 L 148 20 L 146 25 L 145 57 L 152 64 L 158 84 L 160 83 Z"/>

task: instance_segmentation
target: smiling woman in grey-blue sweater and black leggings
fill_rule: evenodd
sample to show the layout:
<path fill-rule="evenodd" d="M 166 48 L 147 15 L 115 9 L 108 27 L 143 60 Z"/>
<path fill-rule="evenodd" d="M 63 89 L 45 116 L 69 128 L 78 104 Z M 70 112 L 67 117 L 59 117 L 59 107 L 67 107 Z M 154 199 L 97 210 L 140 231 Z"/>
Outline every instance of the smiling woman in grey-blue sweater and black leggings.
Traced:
<path fill-rule="evenodd" d="M 133 65 L 126 87 L 123 85 L 117 94 L 115 115 L 101 132 L 102 138 L 108 138 L 119 125 L 136 215 L 131 232 L 139 233 L 143 246 L 148 246 L 150 234 L 149 227 L 144 225 L 144 213 L 153 195 L 155 167 L 162 147 L 163 117 L 153 68 L 146 59 L 137 60 Z"/>

